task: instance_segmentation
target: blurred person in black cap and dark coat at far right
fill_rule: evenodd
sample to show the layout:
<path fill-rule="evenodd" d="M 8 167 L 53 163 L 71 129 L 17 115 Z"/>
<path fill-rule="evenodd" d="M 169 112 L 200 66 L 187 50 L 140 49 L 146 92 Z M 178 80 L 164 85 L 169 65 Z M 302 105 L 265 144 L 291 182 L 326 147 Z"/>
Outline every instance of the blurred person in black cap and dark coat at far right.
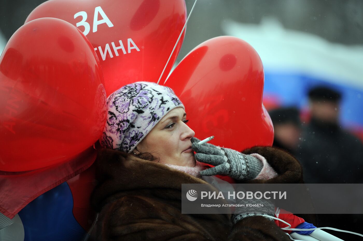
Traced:
<path fill-rule="evenodd" d="M 311 119 L 297 153 L 306 183 L 363 183 L 363 144 L 339 124 L 341 99 L 326 86 L 309 91 Z"/>

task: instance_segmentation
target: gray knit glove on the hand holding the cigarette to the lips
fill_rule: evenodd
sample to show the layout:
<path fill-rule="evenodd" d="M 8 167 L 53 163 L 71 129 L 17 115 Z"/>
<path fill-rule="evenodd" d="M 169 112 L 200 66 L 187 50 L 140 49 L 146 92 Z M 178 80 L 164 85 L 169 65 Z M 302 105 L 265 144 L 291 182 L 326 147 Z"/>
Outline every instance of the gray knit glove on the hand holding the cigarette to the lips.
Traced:
<path fill-rule="evenodd" d="M 262 162 L 253 156 L 242 154 L 229 148 L 217 147 L 209 143 L 198 144 L 199 139 L 192 137 L 195 159 L 215 167 L 200 172 L 202 176 L 228 175 L 234 179 L 253 179 L 261 172 Z"/>

